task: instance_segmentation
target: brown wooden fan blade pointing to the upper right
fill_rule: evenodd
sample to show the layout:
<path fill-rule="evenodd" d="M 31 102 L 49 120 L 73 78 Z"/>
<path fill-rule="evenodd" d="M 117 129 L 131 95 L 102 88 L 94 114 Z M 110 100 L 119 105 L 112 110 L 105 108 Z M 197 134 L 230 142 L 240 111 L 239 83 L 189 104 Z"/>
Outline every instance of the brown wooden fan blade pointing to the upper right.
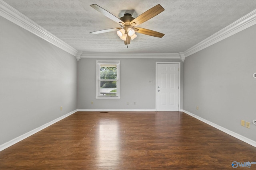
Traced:
<path fill-rule="evenodd" d="M 153 8 L 150 8 L 149 10 L 147 10 L 146 12 L 144 12 L 143 14 L 141 14 L 134 20 L 132 20 L 130 22 L 130 24 L 135 23 L 135 25 L 134 25 L 134 27 L 135 27 L 145 21 L 148 21 L 149 19 L 153 18 L 154 16 L 157 16 L 158 14 L 160 14 L 163 11 L 164 11 L 164 8 L 160 4 L 158 4 L 158 5 L 154 6 Z"/>

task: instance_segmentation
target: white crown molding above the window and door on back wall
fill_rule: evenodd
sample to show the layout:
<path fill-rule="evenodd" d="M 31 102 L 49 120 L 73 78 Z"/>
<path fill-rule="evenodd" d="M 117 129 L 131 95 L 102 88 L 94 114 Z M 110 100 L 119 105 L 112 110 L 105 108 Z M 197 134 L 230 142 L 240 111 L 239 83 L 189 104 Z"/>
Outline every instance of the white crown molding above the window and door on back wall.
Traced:
<path fill-rule="evenodd" d="M 180 59 L 178 53 L 87 53 L 81 58 Z"/>

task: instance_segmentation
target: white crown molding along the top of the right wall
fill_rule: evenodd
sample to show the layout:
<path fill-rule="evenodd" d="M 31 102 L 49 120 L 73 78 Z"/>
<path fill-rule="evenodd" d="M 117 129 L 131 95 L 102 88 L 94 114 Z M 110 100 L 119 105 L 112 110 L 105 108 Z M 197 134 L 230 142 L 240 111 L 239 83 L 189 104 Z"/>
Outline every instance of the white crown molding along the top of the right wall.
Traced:
<path fill-rule="evenodd" d="M 218 43 L 219 41 L 230 37 L 252 25 L 256 24 L 256 10 L 253 10 L 246 16 L 240 18 L 239 20 L 231 23 L 227 27 L 221 29 L 220 31 L 216 32 L 215 34 L 211 35 L 210 37 L 204 39 L 200 43 L 194 45 L 193 47 L 184 51 L 185 57 L 188 57 L 210 45 Z"/>

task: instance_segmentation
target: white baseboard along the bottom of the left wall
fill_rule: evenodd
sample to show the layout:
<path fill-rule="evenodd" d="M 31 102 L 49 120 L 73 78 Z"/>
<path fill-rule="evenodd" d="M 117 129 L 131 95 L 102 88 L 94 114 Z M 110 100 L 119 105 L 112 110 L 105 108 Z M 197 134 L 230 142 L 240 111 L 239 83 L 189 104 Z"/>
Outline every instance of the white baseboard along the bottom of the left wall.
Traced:
<path fill-rule="evenodd" d="M 29 132 L 27 132 L 27 133 L 25 133 L 23 135 L 20 135 L 19 137 L 16 137 L 16 138 L 12 139 L 11 141 L 8 141 L 8 142 L 0 145 L 0 151 L 2 151 L 4 149 L 6 149 L 6 148 L 8 148 L 8 147 L 18 143 L 18 142 L 20 142 L 20 141 L 22 141 L 24 139 L 26 139 L 27 137 L 30 137 L 31 135 L 34 135 L 35 133 L 45 129 L 46 127 L 48 127 L 48 126 L 50 126 L 50 125 L 52 125 L 52 124 L 54 124 L 54 123 L 56 123 L 56 122 L 58 122 L 58 121 L 60 121 L 60 120 L 62 120 L 64 118 L 66 118 L 69 115 L 72 115 L 73 113 L 76 113 L 76 112 L 77 112 L 77 109 L 74 110 L 74 111 L 71 111 L 70 113 L 67 113 L 66 115 L 58 117 L 57 119 L 54 119 L 53 121 L 50 121 L 49 123 L 46 123 L 46 124 L 36 128 L 36 129 L 33 129 L 32 131 L 29 131 Z"/>

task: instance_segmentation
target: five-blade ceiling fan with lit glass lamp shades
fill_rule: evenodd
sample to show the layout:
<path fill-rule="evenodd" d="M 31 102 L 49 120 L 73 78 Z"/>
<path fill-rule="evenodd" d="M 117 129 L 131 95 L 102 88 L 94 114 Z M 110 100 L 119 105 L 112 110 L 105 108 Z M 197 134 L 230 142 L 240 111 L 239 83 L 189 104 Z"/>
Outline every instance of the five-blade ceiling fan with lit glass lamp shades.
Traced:
<path fill-rule="evenodd" d="M 153 8 L 150 8 L 137 18 L 133 18 L 131 14 L 124 14 L 123 17 L 117 18 L 110 12 L 104 10 L 97 4 L 90 5 L 92 8 L 97 10 L 98 12 L 102 13 L 104 16 L 110 18 L 111 20 L 117 22 L 121 27 L 116 28 L 110 28 L 110 29 L 104 29 L 100 31 L 94 31 L 90 32 L 90 34 L 98 34 L 98 33 L 106 33 L 110 31 L 117 31 L 117 35 L 120 37 L 120 39 L 124 40 L 124 45 L 130 44 L 130 41 L 137 37 L 135 32 L 142 33 L 145 35 L 151 35 L 154 37 L 162 38 L 164 36 L 163 33 L 159 33 L 156 31 L 152 31 L 150 29 L 140 28 L 136 27 L 137 25 L 140 25 L 141 23 L 144 23 L 145 21 L 150 20 L 154 16 L 160 14 L 164 11 L 164 8 L 158 4 L 154 6 Z"/>

